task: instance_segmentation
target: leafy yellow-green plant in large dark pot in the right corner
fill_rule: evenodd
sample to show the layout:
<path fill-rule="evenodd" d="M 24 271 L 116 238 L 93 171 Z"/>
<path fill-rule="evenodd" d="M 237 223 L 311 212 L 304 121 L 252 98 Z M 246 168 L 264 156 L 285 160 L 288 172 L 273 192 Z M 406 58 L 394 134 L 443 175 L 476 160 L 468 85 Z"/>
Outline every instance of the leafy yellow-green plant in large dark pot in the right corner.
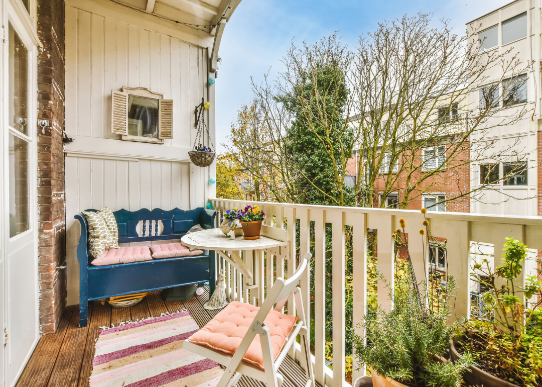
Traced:
<path fill-rule="evenodd" d="M 516 284 L 527 253 L 526 245 L 506 238 L 501 265 L 484 258 L 473 266 L 473 280 L 487 291 L 479 315 L 464 321 L 450 341 L 451 358 L 469 352 L 478 365 L 465 373 L 467 385 L 542 385 L 542 282 L 533 275 L 523 287 Z"/>

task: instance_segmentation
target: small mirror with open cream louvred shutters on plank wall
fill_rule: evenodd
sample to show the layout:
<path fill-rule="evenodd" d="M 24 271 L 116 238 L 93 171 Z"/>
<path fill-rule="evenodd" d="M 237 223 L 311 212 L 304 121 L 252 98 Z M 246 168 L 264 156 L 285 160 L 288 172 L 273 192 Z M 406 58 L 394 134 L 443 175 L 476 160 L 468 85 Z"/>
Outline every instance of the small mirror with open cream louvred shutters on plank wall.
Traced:
<path fill-rule="evenodd" d="M 111 91 L 111 131 L 127 141 L 162 144 L 173 138 L 173 100 L 143 87 Z"/>

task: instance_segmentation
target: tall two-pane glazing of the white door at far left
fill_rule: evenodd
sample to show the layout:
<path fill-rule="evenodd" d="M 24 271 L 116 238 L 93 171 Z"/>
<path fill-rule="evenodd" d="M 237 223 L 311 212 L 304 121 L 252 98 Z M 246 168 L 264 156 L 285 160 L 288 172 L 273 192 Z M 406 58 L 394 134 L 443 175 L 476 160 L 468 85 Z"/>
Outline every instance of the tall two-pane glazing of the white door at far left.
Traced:
<path fill-rule="evenodd" d="M 28 50 L 9 24 L 9 236 L 30 229 Z"/>

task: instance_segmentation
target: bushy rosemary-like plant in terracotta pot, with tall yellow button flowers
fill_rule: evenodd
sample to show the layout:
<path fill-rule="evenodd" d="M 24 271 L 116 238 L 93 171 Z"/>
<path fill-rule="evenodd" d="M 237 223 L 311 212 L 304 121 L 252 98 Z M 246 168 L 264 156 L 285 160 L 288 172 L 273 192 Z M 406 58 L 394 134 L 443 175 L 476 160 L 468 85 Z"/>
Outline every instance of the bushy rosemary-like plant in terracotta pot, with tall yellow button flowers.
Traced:
<path fill-rule="evenodd" d="M 399 224 L 401 229 L 392 234 L 395 251 L 404 247 L 407 253 L 406 258 L 398 254 L 395 257 L 395 267 L 404 269 L 397 270 L 393 278 L 395 289 L 389 291 L 393 309 L 367 312 L 359 329 L 365 332 L 366 339 L 353 333 L 352 346 L 359 359 L 358 369 L 364 365 L 371 367 L 373 385 L 379 387 L 457 387 L 462 372 L 472 360 L 468 353 L 450 363 L 443 359 L 456 329 L 455 324 L 448 322 L 450 299 L 455 295 L 454 278 L 430 277 L 429 281 L 418 282 L 408 252 L 404 219 L 399 220 Z M 410 238 L 422 238 L 425 246 L 425 238 L 431 238 L 429 221 L 425 219 L 423 225 L 420 235 L 411 234 Z M 388 289 L 393 288 L 382 274 L 378 276 Z"/>

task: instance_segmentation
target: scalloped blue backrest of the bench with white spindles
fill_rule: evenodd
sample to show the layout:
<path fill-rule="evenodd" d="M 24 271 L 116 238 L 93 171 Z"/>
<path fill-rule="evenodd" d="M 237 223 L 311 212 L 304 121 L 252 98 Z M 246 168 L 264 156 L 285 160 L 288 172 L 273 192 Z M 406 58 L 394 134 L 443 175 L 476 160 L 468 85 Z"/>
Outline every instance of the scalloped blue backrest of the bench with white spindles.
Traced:
<path fill-rule="evenodd" d="M 86 210 L 96 212 L 93 208 Z M 180 239 L 192 226 L 201 224 L 204 229 L 215 227 L 216 211 L 203 207 L 184 211 L 174 208 L 165 211 L 154 208 L 150 211 L 142 208 L 138 211 L 113 211 L 119 229 L 119 243 L 152 242 L 153 240 Z M 77 214 L 74 217 L 81 223 L 81 238 L 79 249 L 87 248 L 88 223 L 85 215 Z M 139 225 L 139 233 L 138 233 Z M 84 247 L 81 246 L 84 244 Z M 88 255 L 88 252 L 85 251 Z"/>

